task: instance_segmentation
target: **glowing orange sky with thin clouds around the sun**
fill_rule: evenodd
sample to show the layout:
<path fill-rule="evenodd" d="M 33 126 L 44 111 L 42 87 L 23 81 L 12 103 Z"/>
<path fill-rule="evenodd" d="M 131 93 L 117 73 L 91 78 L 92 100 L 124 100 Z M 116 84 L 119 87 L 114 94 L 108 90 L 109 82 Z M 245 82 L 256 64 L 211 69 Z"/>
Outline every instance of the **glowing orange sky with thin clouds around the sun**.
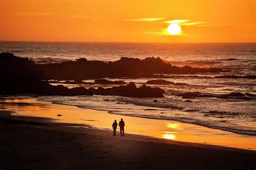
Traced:
<path fill-rule="evenodd" d="M 254 0 L 0 0 L 0 40 L 255 42 Z M 165 33 L 168 20 L 181 34 Z"/>

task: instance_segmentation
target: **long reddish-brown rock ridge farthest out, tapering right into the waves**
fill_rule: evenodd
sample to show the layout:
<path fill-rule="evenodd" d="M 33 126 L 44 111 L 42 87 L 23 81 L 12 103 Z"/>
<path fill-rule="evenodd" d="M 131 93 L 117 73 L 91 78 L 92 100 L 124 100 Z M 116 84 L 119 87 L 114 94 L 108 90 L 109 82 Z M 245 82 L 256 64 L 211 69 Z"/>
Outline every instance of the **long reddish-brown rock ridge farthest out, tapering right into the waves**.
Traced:
<path fill-rule="evenodd" d="M 160 58 L 121 58 L 114 62 L 88 61 L 78 59 L 62 63 L 38 65 L 43 70 L 45 80 L 86 80 L 105 77 L 152 77 L 163 78 L 163 74 L 196 74 L 224 72 L 220 68 L 177 67 L 165 63 Z M 161 75 L 162 74 L 162 75 Z"/>

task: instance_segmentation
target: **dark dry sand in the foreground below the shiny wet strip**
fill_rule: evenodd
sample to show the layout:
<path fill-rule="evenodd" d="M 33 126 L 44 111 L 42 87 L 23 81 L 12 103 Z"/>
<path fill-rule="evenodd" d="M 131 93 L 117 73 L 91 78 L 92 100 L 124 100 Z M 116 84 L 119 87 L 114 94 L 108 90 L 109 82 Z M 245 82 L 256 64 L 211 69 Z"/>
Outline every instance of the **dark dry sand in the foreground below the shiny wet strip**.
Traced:
<path fill-rule="evenodd" d="M 70 128 L 0 112 L 1 169 L 255 169 L 256 152 L 112 131 Z M 14 121 L 22 120 L 22 121 Z"/>

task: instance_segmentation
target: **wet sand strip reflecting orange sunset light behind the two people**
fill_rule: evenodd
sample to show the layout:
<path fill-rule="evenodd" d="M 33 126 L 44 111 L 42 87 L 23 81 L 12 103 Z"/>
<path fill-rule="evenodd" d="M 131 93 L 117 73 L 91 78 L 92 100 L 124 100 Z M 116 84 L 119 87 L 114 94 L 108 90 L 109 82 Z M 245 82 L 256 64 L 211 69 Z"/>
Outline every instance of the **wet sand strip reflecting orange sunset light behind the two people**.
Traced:
<path fill-rule="evenodd" d="M 24 99 L 22 100 L 24 101 Z M 63 104 L 52 104 L 52 102 L 45 102 L 45 101 L 38 100 L 37 98 L 31 98 L 31 97 L 28 97 L 26 100 L 28 102 L 32 102 L 32 103 L 34 102 L 34 104 L 38 104 L 39 106 L 37 106 L 36 108 L 37 110 L 39 110 L 38 112 L 41 111 L 42 113 L 35 114 L 36 111 L 31 110 L 31 107 L 32 109 L 35 109 L 35 107 L 33 108 L 33 106 L 31 105 L 30 108 L 27 107 L 25 109 L 25 107 L 23 107 L 23 111 L 16 110 L 17 114 L 13 114 L 13 115 L 48 117 L 48 118 L 51 118 L 53 122 L 55 121 L 58 123 L 71 123 L 76 125 L 82 124 L 80 126 L 83 126 L 83 124 L 87 124 L 99 129 L 108 129 L 108 130 L 111 130 L 111 124 L 112 124 L 111 121 L 113 121 L 115 118 L 117 119 L 117 117 L 118 118 L 123 117 L 124 120 L 127 120 L 126 124 L 128 125 L 125 128 L 125 131 L 131 134 L 140 134 L 146 137 L 153 137 L 153 138 L 159 138 L 159 139 L 165 138 L 173 141 L 181 141 L 181 142 L 185 141 L 188 143 L 211 144 L 211 145 L 227 146 L 227 147 L 234 147 L 234 148 L 243 148 L 247 150 L 256 150 L 254 136 L 236 134 L 236 133 L 231 133 L 231 132 L 222 131 L 218 129 L 205 128 L 204 126 L 188 124 L 188 123 L 180 123 L 177 121 L 167 121 L 162 119 L 149 119 L 149 118 L 140 118 L 140 117 L 133 117 L 133 116 L 116 115 L 116 114 L 110 114 L 107 111 L 84 109 L 76 106 L 63 105 Z M 15 110 L 15 107 L 12 106 L 12 108 L 14 108 Z M 21 107 L 17 107 L 17 108 L 20 109 Z M 46 109 L 46 110 L 42 111 L 40 110 L 40 108 Z M 49 113 L 53 111 L 56 113 L 55 114 Z M 68 114 L 68 112 L 65 112 L 65 111 L 69 111 L 69 112 L 71 111 L 71 113 Z M 56 116 L 57 112 L 63 112 L 64 114 L 63 116 Z M 62 114 L 62 113 L 59 113 L 59 114 Z M 86 117 L 87 119 L 84 119 L 84 117 Z M 55 119 L 53 120 L 52 118 L 55 118 Z M 102 121 L 103 119 L 104 121 Z M 119 131 L 117 134 L 119 134 Z M 214 137 L 218 141 L 215 141 L 216 139 L 214 139 Z M 230 141 L 231 144 L 228 144 L 227 141 Z"/>

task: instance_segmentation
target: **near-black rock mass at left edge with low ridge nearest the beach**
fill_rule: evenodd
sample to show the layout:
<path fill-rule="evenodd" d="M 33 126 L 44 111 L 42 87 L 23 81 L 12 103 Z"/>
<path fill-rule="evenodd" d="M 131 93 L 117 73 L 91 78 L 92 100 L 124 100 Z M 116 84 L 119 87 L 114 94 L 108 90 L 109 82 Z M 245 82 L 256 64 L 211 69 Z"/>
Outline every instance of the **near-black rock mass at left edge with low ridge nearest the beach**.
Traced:
<path fill-rule="evenodd" d="M 31 62 L 28 58 L 20 58 L 11 53 L 0 54 L 0 94 L 32 93 L 41 95 L 118 95 L 130 97 L 164 97 L 164 90 L 142 86 L 137 88 L 134 83 L 112 88 L 67 88 L 63 85 L 52 86 L 43 81 L 48 72 Z M 71 69 L 72 70 L 72 69 Z M 71 70 L 68 70 L 71 72 Z M 79 73 L 83 74 L 83 73 Z M 82 81 L 66 83 L 84 83 Z M 97 84 L 125 84 L 123 81 L 95 80 Z"/>

